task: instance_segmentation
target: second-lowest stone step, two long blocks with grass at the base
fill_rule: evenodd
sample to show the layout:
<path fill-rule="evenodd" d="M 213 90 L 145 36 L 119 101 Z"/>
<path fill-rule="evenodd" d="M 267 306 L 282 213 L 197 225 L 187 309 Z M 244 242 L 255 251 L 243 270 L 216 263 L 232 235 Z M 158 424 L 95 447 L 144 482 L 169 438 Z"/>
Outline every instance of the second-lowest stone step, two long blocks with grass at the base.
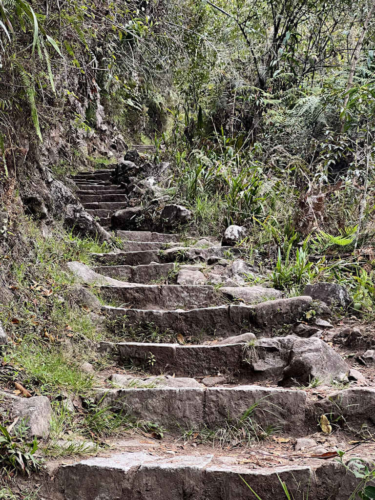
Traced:
<path fill-rule="evenodd" d="M 285 432 L 306 424 L 307 394 L 302 390 L 239 385 L 205 388 L 97 389 L 96 401 L 116 406 L 135 418 L 175 429 L 215 428 L 240 418 L 253 407 L 252 418 L 263 428 Z"/>

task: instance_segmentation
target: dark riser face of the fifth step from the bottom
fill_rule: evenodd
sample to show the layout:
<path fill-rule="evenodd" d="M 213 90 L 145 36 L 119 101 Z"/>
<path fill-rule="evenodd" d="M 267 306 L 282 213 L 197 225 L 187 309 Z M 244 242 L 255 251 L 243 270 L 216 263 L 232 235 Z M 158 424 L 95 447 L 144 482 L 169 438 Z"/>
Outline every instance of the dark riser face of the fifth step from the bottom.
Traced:
<path fill-rule="evenodd" d="M 117 304 L 143 309 L 191 309 L 224 301 L 221 294 L 208 285 L 101 286 L 100 295 Z"/>

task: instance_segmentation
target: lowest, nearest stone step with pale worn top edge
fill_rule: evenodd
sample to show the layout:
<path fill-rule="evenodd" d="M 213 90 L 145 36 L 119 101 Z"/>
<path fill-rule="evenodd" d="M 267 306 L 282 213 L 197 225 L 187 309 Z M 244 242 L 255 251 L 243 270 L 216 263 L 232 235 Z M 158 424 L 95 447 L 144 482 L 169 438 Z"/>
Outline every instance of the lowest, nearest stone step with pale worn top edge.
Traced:
<path fill-rule="evenodd" d="M 279 459 L 275 465 L 266 454 L 256 456 L 256 452 L 244 460 L 216 450 L 171 456 L 143 448 L 59 466 L 52 483 L 55 496 L 62 500 L 281 500 L 286 498 L 284 483 L 288 497 L 295 500 L 347 500 L 360 483 L 337 461 L 306 457 L 300 463 Z M 259 466 L 259 461 L 264 465 Z"/>

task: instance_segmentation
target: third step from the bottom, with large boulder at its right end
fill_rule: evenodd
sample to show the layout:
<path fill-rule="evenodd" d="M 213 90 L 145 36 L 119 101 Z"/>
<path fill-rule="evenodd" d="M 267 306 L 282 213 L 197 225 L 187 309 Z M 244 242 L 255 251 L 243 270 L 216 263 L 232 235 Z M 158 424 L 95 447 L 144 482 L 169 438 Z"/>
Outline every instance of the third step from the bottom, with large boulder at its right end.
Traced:
<path fill-rule="evenodd" d="M 120 342 L 115 352 L 125 365 L 130 362 L 153 374 L 197 377 L 223 373 L 245 383 L 271 381 L 290 386 L 308 384 L 313 378 L 330 383 L 349 371 L 341 356 L 317 337 L 287 335 L 246 342 L 243 336 L 210 345 Z M 147 362 L 150 358 L 152 363 Z"/>

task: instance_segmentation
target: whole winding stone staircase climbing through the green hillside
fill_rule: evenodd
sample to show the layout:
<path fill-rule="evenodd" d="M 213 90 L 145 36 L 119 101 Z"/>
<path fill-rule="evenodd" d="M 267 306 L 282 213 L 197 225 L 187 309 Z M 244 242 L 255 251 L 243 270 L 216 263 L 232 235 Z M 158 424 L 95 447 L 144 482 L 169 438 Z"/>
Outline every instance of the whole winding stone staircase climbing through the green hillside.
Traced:
<path fill-rule="evenodd" d="M 74 178 L 84 206 L 105 226 L 117 204 L 126 204 L 126 192 L 111 183 L 110 172 Z M 100 296 L 112 304 L 101 312 L 122 337 L 98 345 L 117 369 L 98 384 L 96 401 L 153 422 L 167 435 L 119 441 L 115 454 L 102 451 L 60 466 L 57 497 L 273 500 L 286 498 L 284 481 L 295 500 L 349 498 L 356 479 L 335 461 L 334 450 L 358 438 L 354 428 L 374 427 L 375 389 L 352 383 L 334 390 L 332 380 L 347 380 L 346 362 L 319 336 L 290 334 L 316 309 L 311 297 L 179 284 L 182 270 L 230 265 L 240 250 L 213 240 L 194 246 L 196 238 L 178 234 L 119 230 L 116 236 L 123 249 L 93 254 L 96 265 L 87 281 L 97 279 Z M 73 264 L 84 281 L 85 270 Z M 157 336 L 168 341 L 154 341 Z M 314 378 L 321 388 L 309 386 Z M 340 422 L 334 438 L 317 425 L 322 414 Z M 201 433 L 225 446 L 215 439 L 207 444 Z M 252 445 L 246 447 L 246 440 Z M 370 449 L 367 443 L 361 452 Z"/>

